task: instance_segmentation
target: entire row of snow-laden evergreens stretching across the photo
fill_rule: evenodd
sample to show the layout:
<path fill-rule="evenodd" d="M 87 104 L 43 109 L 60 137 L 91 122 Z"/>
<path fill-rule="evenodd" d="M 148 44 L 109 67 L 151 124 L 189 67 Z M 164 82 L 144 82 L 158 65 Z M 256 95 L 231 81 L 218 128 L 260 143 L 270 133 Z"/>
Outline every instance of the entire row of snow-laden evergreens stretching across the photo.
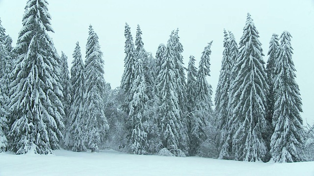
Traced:
<path fill-rule="evenodd" d="M 0 152 L 49 154 L 61 145 L 76 152 L 113 148 L 134 154 L 305 160 L 302 103 L 287 31 L 280 39 L 272 36 L 266 67 L 249 14 L 239 46 L 224 31 L 212 110 L 207 82 L 212 42 L 198 68 L 190 56 L 186 69 L 178 29 L 154 58 L 144 49 L 140 27 L 134 44 L 126 24 L 125 70 L 121 87 L 111 89 L 91 25 L 85 63 L 77 43 L 70 78 L 67 56 L 57 54 L 48 35 L 53 29 L 47 5 L 47 0 L 27 1 L 14 48 L 0 24 Z"/>

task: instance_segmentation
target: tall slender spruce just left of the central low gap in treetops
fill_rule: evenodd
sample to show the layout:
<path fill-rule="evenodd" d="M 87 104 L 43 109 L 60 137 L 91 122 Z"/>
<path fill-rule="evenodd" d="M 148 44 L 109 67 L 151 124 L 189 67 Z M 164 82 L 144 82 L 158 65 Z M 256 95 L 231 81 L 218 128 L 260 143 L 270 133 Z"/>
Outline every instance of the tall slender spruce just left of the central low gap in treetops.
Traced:
<path fill-rule="evenodd" d="M 86 44 L 85 59 L 85 113 L 88 148 L 98 151 L 109 125 L 105 117 L 105 78 L 103 52 L 100 50 L 98 35 L 92 25 Z"/>

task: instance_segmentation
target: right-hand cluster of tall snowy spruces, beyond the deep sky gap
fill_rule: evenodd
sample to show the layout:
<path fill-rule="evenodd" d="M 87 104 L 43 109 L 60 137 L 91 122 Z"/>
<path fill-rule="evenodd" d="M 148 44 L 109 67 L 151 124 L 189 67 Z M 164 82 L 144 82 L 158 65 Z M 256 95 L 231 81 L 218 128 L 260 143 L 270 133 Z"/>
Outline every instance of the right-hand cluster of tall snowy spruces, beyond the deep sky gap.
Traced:
<path fill-rule="evenodd" d="M 221 130 L 219 158 L 295 162 L 302 152 L 302 102 L 295 82 L 291 35 L 273 34 L 266 68 L 257 31 L 248 14 L 239 46 L 225 31 L 222 69 L 215 96 Z"/>

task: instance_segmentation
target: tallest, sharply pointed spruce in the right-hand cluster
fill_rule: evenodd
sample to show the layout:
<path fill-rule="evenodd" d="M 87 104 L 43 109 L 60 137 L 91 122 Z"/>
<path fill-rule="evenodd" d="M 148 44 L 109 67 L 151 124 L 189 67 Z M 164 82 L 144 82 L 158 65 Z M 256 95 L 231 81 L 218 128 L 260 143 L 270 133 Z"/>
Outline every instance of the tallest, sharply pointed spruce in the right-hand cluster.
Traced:
<path fill-rule="evenodd" d="M 263 133 L 266 130 L 266 95 L 268 85 L 259 32 L 247 15 L 239 43 L 236 67 L 241 66 L 234 81 L 231 104 L 235 105 L 232 122 L 237 129 L 233 138 L 235 160 L 265 161 L 267 146 Z"/>

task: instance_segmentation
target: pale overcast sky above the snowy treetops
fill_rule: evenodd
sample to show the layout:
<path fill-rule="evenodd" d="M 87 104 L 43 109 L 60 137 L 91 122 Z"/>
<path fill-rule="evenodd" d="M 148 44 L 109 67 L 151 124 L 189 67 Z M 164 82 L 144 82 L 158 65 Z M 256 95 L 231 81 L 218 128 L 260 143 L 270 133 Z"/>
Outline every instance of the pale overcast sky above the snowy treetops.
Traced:
<path fill-rule="evenodd" d="M 297 83 L 303 99 L 302 113 L 314 123 L 314 0 L 48 0 L 52 15 L 51 34 L 55 47 L 68 56 L 69 65 L 75 44 L 80 43 L 82 54 L 92 24 L 104 52 L 105 79 L 112 88 L 120 85 L 123 73 L 124 25 L 128 22 L 135 38 L 136 25 L 143 31 L 144 47 L 155 56 L 160 43 L 166 43 L 170 32 L 177 27 L 184 47 L 185 66 L 189 55 L 197 63 L 201 52 L 213 40 L 211 77 L 213 90 L 217 86 L 222 58 L 223 28 L 242 35 L 249 12 L 260 32 L 263 53 L 267 55 L 272 33 L 288 30 L 292 35 L 293 61 Z M 7 34 L 17 41 L 22 27 L 26 0 L 0 0 L 0 18 Z M 264 60 L 267 61 L 267 56 Z M 212 100 L 213 100 L 212 96 Z"/>

